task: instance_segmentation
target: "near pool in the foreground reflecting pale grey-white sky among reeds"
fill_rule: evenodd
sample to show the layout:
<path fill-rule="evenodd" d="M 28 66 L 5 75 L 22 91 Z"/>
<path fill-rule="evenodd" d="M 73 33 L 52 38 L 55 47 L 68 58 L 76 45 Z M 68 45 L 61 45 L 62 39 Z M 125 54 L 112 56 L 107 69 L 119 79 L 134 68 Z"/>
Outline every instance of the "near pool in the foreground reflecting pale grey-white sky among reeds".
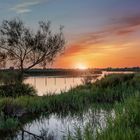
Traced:
<path fill-rule="evenodd" d="M 114 114 L 112 110 L 93 109 L 77 114 L 51 114 L 41 116 L 24 125 L 13 140 L 63 140 L 67 139 L 69 132 L 74 134 L 77 129 L 83 132 L 83 128 L 89 123 L 94 128 L 103 129 L 106 127 L 106 120 L 109 114 Z"/>

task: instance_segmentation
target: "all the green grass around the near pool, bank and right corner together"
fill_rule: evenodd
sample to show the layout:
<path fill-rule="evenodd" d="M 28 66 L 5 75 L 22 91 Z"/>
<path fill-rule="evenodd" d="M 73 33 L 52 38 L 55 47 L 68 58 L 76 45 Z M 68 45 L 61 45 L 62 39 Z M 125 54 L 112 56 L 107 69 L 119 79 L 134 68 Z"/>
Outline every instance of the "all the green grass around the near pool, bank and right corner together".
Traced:
<path fill-rule="evenodd" d="M 21 129 L 21 118 L 25 115 L 79 112 L 93 104 L 113 105 L 115 118 L 110 117 L 107 128 L 97 130 L 96 135 L 89 125 L 84 132 L 78 130 L 74 135 L 69 134 L 68 139 L 140 139 L 139 74 L 109 75 L 94 84 L 85 82 L 85 85 L 60 95 L 1 97 L 0 135 Z"/>

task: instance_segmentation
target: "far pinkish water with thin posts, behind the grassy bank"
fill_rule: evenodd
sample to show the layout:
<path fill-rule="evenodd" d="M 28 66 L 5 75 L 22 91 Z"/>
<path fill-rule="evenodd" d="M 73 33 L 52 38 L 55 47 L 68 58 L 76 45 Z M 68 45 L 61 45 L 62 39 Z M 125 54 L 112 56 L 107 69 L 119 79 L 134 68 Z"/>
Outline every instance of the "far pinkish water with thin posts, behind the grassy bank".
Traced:
<path fill-rule="evenodd" d="M 93 81 L 96 79 L 101 79 L 108 74 L 118 74 L 118 73 L 133 73 L 133 72 L 106 72 L 103 71 L 100 75 L 95 76 Z M 97 77 L 96 77 L 97 76 Z M 39 96 L 46 94 L 60 94 L 61 91 L 68 91 L 70 88 L 74 88 L 82 84 L 82 79 L 84 77 L 58 77 L 58 76 L 32 76 L 25 79 L 24 83 L 32 85 Z"/>

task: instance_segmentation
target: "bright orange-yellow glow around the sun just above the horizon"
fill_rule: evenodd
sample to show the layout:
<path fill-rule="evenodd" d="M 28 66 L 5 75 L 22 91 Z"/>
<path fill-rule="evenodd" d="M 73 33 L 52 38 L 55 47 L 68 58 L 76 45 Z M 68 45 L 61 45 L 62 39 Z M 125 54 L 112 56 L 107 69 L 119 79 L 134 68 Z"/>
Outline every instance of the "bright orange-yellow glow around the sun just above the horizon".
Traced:
<path fill-rule="evenodd" d="M 140 66 L 139 42 L 112 44 L 76 44 L 57 58 L 56 68 L 105 68 Z"/>

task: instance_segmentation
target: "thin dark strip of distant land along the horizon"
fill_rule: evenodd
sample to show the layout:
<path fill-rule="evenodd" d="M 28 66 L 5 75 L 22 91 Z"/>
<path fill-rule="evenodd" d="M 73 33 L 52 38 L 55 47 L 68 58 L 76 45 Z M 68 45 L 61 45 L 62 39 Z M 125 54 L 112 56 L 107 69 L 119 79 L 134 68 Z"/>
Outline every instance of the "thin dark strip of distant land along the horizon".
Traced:
<path fill-rule="evenodd" d="M 11 67 L 10 69 L 0 69 L 0 72 L 18 72 L 18 69 Z M 86 74 L 102 74 L 102 71 L 113 72 L 140 72 L 140 67 L 130 68 L 89 68 L 85 70 L 80 69 L 63 69 L 63 68 L 47 68 L 47 69 L 30 69 L 24 74 L 26 76 L 82 76 Z"/>

